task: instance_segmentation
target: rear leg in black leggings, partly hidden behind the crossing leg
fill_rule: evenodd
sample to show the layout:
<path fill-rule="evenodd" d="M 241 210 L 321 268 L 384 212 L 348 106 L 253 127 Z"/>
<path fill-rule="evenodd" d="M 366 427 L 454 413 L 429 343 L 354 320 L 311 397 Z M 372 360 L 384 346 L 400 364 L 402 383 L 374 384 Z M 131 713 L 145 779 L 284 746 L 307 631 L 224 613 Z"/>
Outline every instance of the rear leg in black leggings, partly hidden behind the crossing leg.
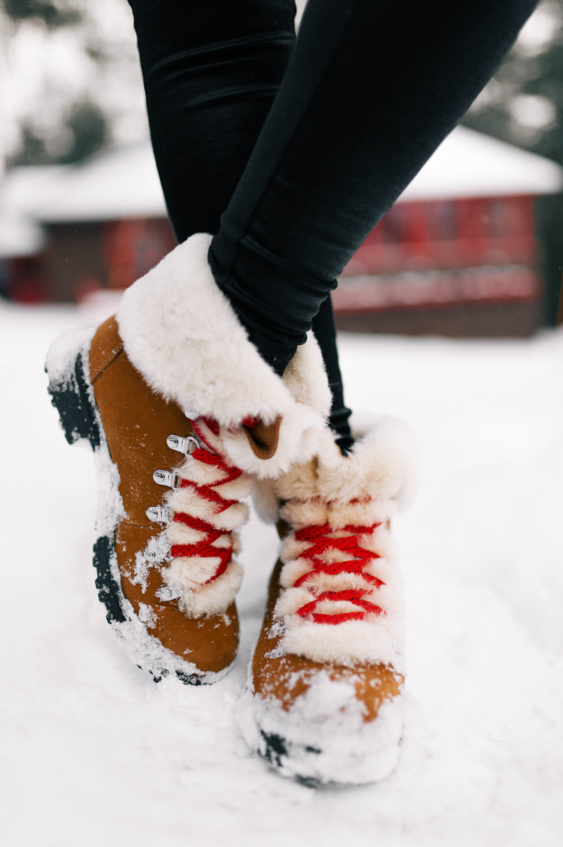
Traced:
<path fill-rule="evenodd" d="M 295 43 L 294 0 L 130 0 L 152 147 L 179 241 L 217 233 Z M 333 390 L 331 424 L 350 443 L 334 316 L 315 318 Z"/>

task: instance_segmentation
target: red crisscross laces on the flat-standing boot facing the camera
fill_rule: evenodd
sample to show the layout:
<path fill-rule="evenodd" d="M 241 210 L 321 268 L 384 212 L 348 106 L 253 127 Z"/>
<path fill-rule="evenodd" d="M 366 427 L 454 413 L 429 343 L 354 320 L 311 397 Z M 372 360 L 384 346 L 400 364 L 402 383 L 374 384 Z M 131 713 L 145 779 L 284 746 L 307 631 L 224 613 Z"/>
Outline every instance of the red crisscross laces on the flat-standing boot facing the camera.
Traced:
<path fill-rule="evenodd" d="M 303 576 L 296 580 L 295 588 L 313 579 L 316 573 L 328 573 L 331 576 L 337 573 L 357 573 L 358 576 L 361 576 L 362 579 L 370 584 L 370 587 L 366 587 L 365 589 L 323 591 L 312 602 L 301 606 L 301 609 L 297 610 L 298 615 L 301 617 L 312 615 L 315 623 L 342 623 L 343 621 L 362 620 L 368 613 L 374 615 L 384 614 L 380 606 L 376 606 L 374 603 L 370 603 L 364 599 L 365 595 L 369 594 L 372 590 L 372 585 L 376 588 L 384 585 L 383 580 L 374 577 L 371 573 L 363 572 L 363 568 L 367 565 L 367 562 L 371 562 L 372 559 L 378 559 L 379 556 L 377 553 L 366 550 L 358 544 L 358 535 L 371 534 L 380 525 L 381 523 L 373 523 L 371 526 L 358 526 L 349 523 L 341 531 L 350 533 L 350 535 L 345 535 L 342 538 L 328 538 L 330 534 L 335 534 L 334 529 L 330 527 L 329 523 L 315 524 L 295 531 L 295 540 L 311 543 L 311 546 L 301 553 L 300 558 L 305 559 L 306 562 L 312 565 L 311 571 L 304 573 Z M 348 553 L 350 556 L 354 556 L 354 558 L 348 559 L 345 562 L 325 562 L 318 557 L 329 550 Z M 339 614 L 334 615 L 315 612 L 318 603 L 323 600 L 348 601 L 359 608 L 357 612 L 339 612 Z"/>

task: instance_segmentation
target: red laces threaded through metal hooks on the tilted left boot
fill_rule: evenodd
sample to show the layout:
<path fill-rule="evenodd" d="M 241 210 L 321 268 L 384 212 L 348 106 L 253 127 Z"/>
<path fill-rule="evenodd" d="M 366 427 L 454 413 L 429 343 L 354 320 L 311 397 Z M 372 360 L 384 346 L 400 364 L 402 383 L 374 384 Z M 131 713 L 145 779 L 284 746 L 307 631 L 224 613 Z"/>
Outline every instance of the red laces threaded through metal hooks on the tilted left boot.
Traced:
<path fill-rule="evenodd" d="M 201 419 L 204 421 L 207 428 L 213 432 L 213 435 L 219 434 L 219 427 L 216 421 L 213 421 L 211 418 Z M 243 473 L 240 468 L 228 465 L 220 456 L 218 456 L 217 453 L 213 452 L 211 446 L 201 434 L 201 430 L 198 428 L 195 421 L 192 421 L 191 426 L 201 443 L 205 444 L 208 448 L 207 450 L 203 450 L 203 448 L 197 447 L 196 450 L 191 453 L 191 458 L 195 459 L 196 462 L 204 462 L 206 465 L 213 465 L 225 474 L 224 479 L 220 479 L 218 482 L 213 483 L 213 488 L 218 488 L 219 485 L 224 485 L 228 482 L 232 482 L 233 479 L 238 479 L 241 473 Z M 238 500 L 226 500 L 218 493 L 218 491 L 214 491 L 212 486 L 200 485 L 196 482 L 192 482 L 191 479 L 182 479 L 180 488 L 191 488 L 195 490 L 200 497 L 203 497 L 204 500 L 214 503 L 215 506 L 218 507 L 215 510 L 215 514 L 220 514 L 221 512 L 224 512 L 225 509 L 228 509 L 229 506 L 233 506 L 235 503 L 238 503 Z M 203 540 L 197 541 L 195 544 L 172 545 L 172 549 L 170 551 L 172 557 L 201 556 L 201 558 L 206 559 L 218 558 L 220 559 L 218 567 L 215 573 L 213 573 L 213 577 L 207 579 L 205 584 L 207 585 L 207 583 L 213 582 L 213 579 L 220 577 L 221 574 L 226 571 L 233 555 L 232 532 L 228 532 L 224 529 L 217 529 L 217 527 L 213 526 L 213 523 L 208 523 L 202 518 L 193 518 L 185 512 L 176 512 L 174 514 L 174 521 L 177 523 L 184 523 L 185 526 L 190 527 L 190 529 L 205 532 L 207 535 Z M 227 535 L 229 537 L 230 544 L 228 547 L 213 546 L 213 541 L 217 541 L 221 535 Z"/>

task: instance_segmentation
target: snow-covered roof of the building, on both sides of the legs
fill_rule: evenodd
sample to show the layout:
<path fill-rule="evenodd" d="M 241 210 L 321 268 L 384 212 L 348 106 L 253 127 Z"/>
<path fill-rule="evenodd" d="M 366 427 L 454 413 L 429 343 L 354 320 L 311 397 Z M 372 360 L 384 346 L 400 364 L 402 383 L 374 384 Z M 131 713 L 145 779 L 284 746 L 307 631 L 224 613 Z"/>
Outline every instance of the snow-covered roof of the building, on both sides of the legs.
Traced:
<path fill-rule="evenodd" d="M 561 190 L 563 169 L 555 162 L 458 126 L 398 202 Z M 165 214 L 148 139 L 99 153 L 79 165 L 15 168 L 0 185 L 0 256 L 37 252 L 41 223 Z"/>

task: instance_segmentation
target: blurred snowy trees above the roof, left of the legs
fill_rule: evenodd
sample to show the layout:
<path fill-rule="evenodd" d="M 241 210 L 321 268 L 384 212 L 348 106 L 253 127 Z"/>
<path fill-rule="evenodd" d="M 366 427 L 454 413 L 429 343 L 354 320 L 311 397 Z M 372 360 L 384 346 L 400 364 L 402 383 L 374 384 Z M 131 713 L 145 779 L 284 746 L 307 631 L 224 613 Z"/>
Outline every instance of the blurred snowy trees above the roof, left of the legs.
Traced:
<path fill-rule="evenodd" d="M 0 173 L 146 136 L 127 0 L 0 0 L 0 30 Z"/>

